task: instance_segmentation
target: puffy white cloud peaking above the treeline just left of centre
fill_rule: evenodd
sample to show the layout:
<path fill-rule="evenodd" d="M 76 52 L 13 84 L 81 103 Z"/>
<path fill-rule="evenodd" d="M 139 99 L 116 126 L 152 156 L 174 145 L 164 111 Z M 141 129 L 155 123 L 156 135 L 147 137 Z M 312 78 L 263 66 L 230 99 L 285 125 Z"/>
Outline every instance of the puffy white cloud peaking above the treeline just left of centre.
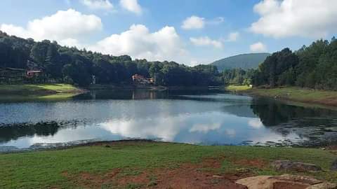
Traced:
<path fill-rule="evenodd" d="M 176 59 L 185 55 L 174 27 L 163 27 L 151 33 L 145 25 L 132 25 L 121 34 L 113 34 L 89 49 L 110 55 L 131 55 L 150 60 Z"/>

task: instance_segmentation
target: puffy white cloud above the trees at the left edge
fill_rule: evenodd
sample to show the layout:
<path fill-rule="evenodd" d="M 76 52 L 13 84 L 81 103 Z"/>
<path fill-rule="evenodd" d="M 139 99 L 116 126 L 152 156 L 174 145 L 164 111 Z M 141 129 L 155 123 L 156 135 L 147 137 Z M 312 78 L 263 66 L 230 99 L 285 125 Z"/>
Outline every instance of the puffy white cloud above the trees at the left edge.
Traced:
<path fill-rule="evenodd" d="M 84 15 L 76 10 L 59 10 L 45 18 L 28 22 L 27 27 L 3 24 L 1 31 L 22 38 L 34 38 L 77 43 L 77 38 L 100 31 L 103 28 L 100 18 L 95 15 Z M 62 44 L 62 43 L 61 43 Z M 63 43 L 63 45 L 68 45 Z"/>

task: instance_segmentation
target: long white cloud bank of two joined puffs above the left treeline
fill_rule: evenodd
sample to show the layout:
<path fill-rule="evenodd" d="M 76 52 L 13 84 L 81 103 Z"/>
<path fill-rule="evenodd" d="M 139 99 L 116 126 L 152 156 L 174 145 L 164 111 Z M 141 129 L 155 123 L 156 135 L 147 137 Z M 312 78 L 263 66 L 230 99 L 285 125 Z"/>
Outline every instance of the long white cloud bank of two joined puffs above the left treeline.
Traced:
<path fill-rule="evenodd" d="M 130 55 L 133 58 L 190 62 L 188 52 L 174 27 L 163 27 L 150 32 L 144 25 L 132 25 L 121 34 L 112 34 L 98 42 L 83 41 L 89 34 L 100 31 L 103 24 L 95 15 L 84 15 L 76 10 L 58 11 L 54 15 L 32 20 L 27 27 L 0 25 L 0 30 L 22 38 L 58 41 L 61 45 L 87 48 L 110 55 Z"/>

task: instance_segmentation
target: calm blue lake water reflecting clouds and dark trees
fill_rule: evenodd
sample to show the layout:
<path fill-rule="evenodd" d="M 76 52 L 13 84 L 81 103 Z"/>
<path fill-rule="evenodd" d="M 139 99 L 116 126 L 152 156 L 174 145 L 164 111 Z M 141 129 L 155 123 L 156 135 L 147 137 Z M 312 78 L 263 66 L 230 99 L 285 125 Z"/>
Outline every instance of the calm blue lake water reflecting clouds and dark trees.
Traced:
<path fill-rule="evenodd" d="M 0 151 L 88 141 L 335 144 L 337 112 L 213 91 L 102 90 L 63 102 L 0 102 Z"/>

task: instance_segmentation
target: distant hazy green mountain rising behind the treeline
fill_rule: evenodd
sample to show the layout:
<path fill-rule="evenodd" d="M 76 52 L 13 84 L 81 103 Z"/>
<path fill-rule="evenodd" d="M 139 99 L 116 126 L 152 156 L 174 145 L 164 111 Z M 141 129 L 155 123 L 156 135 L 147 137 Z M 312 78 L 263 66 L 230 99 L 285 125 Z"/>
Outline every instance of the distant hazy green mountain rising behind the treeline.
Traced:
<path fill-rule="evenodd" d="M 226 57 L 224 59 L 219 59 L 211 64 L 217 66 L 219 71 L 235 68 L 256 69 L 258 67 L 258 64 L 265 61 L 265 59 L 269 55 L 270 53 L 250 53 L 250 54 L 236 55 L 233 57 Z"/>

